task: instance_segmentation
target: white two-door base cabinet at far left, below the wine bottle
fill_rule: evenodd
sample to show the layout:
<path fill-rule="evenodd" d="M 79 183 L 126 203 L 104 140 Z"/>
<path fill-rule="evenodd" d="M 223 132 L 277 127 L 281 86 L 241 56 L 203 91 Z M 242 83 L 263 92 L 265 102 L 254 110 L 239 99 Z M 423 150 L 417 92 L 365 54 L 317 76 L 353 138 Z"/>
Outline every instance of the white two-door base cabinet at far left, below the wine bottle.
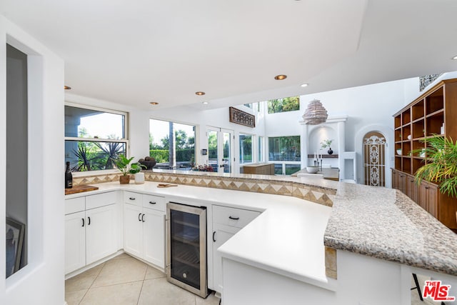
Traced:
<path fill-rule="evenodd" d="M 119 238 L 116 194 L 111 191 L 66 199 L 65 274 L 116 252 Z"/>

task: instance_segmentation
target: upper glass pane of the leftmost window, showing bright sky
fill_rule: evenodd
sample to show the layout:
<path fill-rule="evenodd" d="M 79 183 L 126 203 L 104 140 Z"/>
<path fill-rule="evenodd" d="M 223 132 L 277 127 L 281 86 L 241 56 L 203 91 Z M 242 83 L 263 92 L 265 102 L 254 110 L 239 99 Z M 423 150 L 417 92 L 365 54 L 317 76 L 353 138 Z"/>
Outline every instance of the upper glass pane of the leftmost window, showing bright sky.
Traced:
<path fill-rule="evenodd" d="M 105 111 L 65 106 L 65 136 L 125 139 L 125 116 Z"/>

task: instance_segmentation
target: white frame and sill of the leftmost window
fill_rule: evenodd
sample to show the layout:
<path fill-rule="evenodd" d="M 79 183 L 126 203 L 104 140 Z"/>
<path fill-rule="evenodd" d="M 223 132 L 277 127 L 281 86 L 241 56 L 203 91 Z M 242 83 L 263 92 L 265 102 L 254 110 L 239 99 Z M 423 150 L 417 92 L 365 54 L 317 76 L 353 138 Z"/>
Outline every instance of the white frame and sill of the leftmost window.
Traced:
<path fill-rule="evenodd" d="M 64 106 L 70 106 L 74 108 L 102 111 L 109 114 L 119 114 L 124 116 L 124 138 L 122 139 L 99 139 L 99 138 L 80 138 L 78 136 L 64 136 L 64 143 L 66 141 L 76 142 L 105 142 L 105 143 L 123 143 L 126 146 L 126 157 L 130 157 L 130 144 L 129 144 L 129 112 L 119 111 L 114 109 L 106 109 L 97 106 L 89 106 L 85 104 L 72 103 L 65 101 Z M 65 132 L 65 131 L 64 131 Z M 72 171 L 73 176 L 91 176 L 93 174 L 112 174 L 119 173 L 119 169 L 99 169 L 94 171 Z"/>

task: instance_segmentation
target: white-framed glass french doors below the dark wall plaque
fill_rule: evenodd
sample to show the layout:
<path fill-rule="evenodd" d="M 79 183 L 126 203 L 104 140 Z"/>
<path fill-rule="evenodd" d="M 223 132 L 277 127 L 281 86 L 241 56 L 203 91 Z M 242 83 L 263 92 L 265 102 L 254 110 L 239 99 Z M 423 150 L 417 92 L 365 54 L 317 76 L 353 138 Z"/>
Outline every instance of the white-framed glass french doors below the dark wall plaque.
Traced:
<path fill-rule="evenodd" d="M 233 130 L 215 127 L 207 128 L 208 161 L 213 171 L 233 172 Z"/>

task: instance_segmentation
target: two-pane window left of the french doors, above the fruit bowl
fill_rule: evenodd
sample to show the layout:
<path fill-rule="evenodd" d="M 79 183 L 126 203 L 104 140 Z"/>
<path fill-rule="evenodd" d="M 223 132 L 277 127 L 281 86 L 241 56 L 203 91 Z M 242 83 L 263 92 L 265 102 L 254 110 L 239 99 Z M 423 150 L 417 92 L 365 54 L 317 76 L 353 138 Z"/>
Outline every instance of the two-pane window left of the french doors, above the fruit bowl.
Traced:
<path fill-rule="evenodd" d="M 149 156 L 156 159 L 154 169 L 189 171 L 195 163 L 195 126 L 150 119 Z"/>

